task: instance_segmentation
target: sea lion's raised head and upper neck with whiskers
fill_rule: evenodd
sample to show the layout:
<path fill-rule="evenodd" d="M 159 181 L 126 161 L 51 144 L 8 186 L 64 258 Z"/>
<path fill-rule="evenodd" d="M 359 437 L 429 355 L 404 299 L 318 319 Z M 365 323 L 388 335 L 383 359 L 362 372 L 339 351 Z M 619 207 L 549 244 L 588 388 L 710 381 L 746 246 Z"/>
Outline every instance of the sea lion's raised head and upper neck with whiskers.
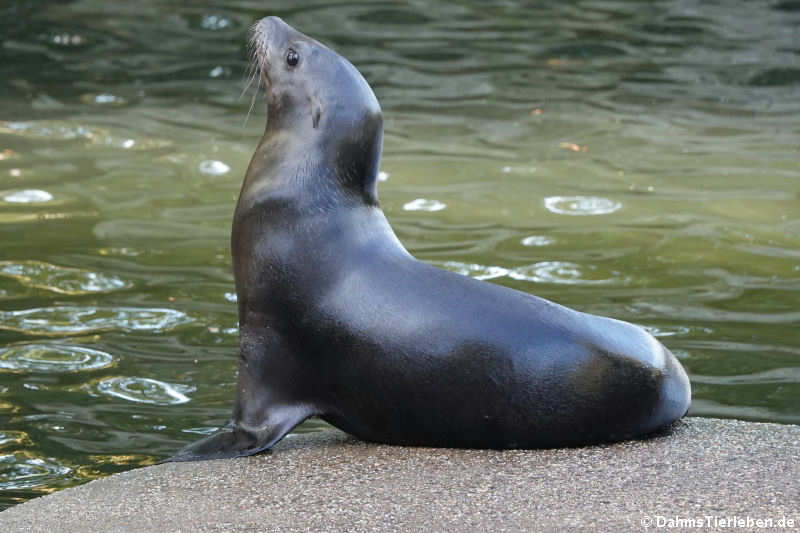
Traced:
<path fill-rule="evenodd" d="M 364 77 L 345 58 L 278 17 L 253 26 L 250 48 L 267 100 L 261 148 L 303 154 L 317 174 L 330 168 L 340 185 L 377 204 L 383 116 Z"/>

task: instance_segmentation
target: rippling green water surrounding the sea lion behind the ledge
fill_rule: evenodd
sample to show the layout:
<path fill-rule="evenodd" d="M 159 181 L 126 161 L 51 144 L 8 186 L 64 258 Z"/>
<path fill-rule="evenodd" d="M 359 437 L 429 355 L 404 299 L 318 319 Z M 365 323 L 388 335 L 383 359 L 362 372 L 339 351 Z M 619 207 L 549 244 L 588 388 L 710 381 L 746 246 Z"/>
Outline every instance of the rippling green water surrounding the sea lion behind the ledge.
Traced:
<path fill-rule="evenodd" d="M 375 89 L 414 255 L 646 326 L 695 415 L 800 423 L 800 4 L 216 5 L 0 6 L 0 508 L 228 417 L 267 14 Z"/>

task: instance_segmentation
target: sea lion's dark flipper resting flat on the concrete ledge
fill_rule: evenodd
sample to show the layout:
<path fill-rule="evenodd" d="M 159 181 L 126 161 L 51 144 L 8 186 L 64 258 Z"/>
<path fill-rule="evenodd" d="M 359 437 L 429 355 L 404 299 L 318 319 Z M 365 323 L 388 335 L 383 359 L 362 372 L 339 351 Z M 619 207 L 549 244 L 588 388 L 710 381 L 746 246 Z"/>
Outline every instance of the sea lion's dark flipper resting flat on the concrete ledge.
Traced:
<path fill-rule="evenodd" d="M 207 461 L 255 455 L 272 448 L 295 426 L 309 418 L 311 413 L 304 409 L 285 409 L 279 415 L 273 413 L 270 422 L 274 422 L 263 428 L 245 428 L 230 423 L 160 462 Z"/>

